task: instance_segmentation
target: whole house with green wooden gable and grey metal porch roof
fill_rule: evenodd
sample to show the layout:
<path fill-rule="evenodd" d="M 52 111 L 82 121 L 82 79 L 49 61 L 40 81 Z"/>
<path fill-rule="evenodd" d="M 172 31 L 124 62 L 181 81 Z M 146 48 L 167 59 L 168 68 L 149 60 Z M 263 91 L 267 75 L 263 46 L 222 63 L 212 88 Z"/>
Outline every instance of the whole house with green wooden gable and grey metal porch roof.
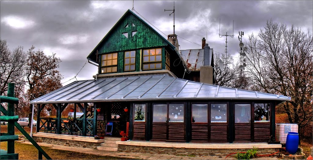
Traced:
<path fill-rule="evenodd" d="M 130 152 L 130 146 L 174 146 L 187 148 L 186 154 L 191 154 L 188 148 L 198 147 L 208 152 L 237 150 L 240 146 L 229 143 L 267 142 L 275 137 L 275 106 L 291 97 L 212 85 L 213 49 L 205 41 L 203 38 L 201 49 L 179 50 L 176 34 L 165 39 L 126 11 L 87 57 L 98 66 L 94 79 L 74 81 L 31 101 L 38 107 L 37 124 L 41 123 L 34 135 L 47 138 L 49 143 L 49 138 L 63 142 L 62 138 L 71 135 L 118 137 L 124 131 L 131 142 L 116 142 L 120 151 Z M 62 118 L 70 103 L 74 104 L 75 118 Z M 56 118 L 39 116 L 46 104 L 53 104 Z M 81 117 L 75 115 L 77 106 L 83 111 Z M 66 136 L 56 138 L 41 132 Z M 99 148 L 100 142 L 104 141 L 86 145 Z M 227 144 L 199 146 L 194 142 Z M 253 146 L 269 153 L 281 147 L 254 143 L 241 148 Z"/>

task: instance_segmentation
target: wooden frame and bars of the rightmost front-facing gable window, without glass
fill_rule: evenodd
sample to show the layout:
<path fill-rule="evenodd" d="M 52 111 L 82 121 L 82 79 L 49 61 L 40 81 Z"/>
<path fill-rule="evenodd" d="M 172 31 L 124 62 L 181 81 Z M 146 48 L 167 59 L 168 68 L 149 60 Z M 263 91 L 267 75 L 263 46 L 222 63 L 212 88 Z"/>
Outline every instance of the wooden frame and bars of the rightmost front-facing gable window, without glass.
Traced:
<path fill-rule="evenodd" d="M 156 53 L 156 49 L 160 49 L 159 54 L 150 55 L 150 50 L 153 50 Z M 148 55 L 144 55 L 145 50 L 148 50 Z M 156 60 L 156 56 L 161 56 L 160 60 Z M 144 62 L 144 58 L 148 57 L 148 61 Z M 154 61 L 150 61 L 150 57 L 154 57 Z M 150 68 L 150 65 L 154 64 L 154 68 Z M 144 65 L 148 65 L 148 69 L 144 69 Z M 159 68 L 156 68 L 156 65 L 161 65 Z M 142 49 L 142 70 L 162 70 L 162 48 L 151 48 L 151 49 Z"/>

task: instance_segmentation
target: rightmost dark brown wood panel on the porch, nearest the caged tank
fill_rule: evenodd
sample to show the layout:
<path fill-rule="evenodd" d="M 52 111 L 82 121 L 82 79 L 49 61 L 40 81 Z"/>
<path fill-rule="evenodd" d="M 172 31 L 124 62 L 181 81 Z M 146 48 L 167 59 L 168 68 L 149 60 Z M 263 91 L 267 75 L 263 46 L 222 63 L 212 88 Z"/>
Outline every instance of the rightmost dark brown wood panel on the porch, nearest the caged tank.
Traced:
<path fill-rule="evenodd" d="M 254 123 L 254 141 L 267 142 L 270 136 L 270 123 Z"/>

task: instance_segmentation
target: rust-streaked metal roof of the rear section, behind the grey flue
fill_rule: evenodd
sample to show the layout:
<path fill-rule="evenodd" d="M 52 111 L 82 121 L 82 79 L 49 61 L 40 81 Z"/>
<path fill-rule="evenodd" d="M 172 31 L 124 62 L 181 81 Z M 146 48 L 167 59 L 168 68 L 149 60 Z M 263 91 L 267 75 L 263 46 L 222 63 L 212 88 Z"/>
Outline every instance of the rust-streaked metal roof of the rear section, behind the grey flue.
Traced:
<path fill-rule="evenodd" d="M 186 49 L 181 50 L 181 56 L 187 64 L 189 70 L 200 70 L 204 61 L 204 49 Z M 210 64 L 213 56 L 213 48 L 210 49 Z"/>

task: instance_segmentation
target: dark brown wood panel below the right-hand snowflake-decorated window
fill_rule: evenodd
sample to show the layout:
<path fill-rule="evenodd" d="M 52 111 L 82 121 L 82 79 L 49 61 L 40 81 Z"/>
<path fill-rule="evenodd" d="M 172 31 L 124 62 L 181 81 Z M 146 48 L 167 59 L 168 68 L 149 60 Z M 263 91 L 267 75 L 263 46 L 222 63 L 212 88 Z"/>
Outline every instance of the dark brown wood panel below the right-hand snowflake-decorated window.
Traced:
<path fill-rule="evenodd" d="M 227 123 L 211 123 L 211 142 L 227 142 Z"/>

